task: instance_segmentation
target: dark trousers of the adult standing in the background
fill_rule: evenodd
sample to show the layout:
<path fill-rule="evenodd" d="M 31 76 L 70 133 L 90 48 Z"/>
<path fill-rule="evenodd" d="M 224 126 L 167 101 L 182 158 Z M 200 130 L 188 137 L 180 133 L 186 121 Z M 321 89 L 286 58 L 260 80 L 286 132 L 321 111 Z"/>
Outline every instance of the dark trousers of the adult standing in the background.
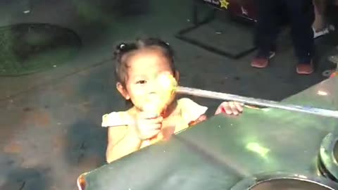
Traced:
<path fill-rule="evenodd" d="M 314 39 L 312 24 L 315 19 L 312 0 L 256 0 L 258 19 L 255 43 L 258 56 L 267 57 L 275 51 L 277 34 L 284 20 L 291 25 L 294 50 L 299 63 L 310 63 Z"/>

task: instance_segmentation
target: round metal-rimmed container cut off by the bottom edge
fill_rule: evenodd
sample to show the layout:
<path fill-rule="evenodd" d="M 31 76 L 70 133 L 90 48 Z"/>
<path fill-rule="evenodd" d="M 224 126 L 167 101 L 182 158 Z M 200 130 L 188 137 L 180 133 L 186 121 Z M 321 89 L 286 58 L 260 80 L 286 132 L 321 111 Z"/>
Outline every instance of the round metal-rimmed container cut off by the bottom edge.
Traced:
<path fill-rule="evenodd" d="M 338 184 L 324 177 L 306 177 L 303 175 L 258 175 L 243 179 L 231 190 L 334 190 Z"/>

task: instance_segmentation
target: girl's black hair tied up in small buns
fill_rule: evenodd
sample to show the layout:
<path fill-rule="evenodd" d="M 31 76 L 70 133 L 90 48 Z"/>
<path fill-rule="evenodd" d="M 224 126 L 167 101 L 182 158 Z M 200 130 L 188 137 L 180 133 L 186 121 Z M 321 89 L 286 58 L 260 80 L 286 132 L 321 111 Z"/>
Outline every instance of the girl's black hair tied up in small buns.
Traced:
<path fill-rule="evenodd" d="M 116 82 L 120 82 L 125 87 L 125 81 L 127 80 L 128 56 L 130 56 L 130 53 L 132 51 L 148 47 L 160 48 L 163 51 L 163 56 L 165 56 L 165 58 L 168 58 L 171 70 L 173 71 L 173 73 L 175 72 L 174 52 L 168 43 L 156 38 L 137 39 L 136 42 L 122 43 L 116 46 L 114 52 Z"/>

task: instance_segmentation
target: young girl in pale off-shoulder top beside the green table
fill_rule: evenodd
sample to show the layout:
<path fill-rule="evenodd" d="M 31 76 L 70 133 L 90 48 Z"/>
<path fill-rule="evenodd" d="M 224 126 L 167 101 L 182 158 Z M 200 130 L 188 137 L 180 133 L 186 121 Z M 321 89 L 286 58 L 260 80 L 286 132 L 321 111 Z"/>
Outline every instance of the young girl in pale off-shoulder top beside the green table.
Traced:
<path fill-rule="evenodd" d="M 149 102 L 144 100 L 161 93 L 156 85 L 158 75 L 166 73 L 179 80 L 173 50 L 165 42 L 144 39 L 120 44 L 115 51 L 115 61 L 116 88 L 130 103 L 130 108 L 103 117 L 102 127 L 108 127 L 108 163 L 206 120 L 208 108 L 187 98 L 168 99 L 159 115 L 146 109 Z M 215 114 L 222 112 L 238 115 L 242 106 L 224 102 Z"/>

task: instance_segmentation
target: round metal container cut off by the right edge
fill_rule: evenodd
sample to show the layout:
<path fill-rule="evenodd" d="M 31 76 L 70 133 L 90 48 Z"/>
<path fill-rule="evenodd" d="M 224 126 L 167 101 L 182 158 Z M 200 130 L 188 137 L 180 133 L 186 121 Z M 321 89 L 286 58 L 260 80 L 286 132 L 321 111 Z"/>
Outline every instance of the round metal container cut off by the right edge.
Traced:
<path fill-rule="evenodd" d="M 327 134 L 320 146 L 318 169 L 325 177 L 338 182 L 338 135 Z"/>

